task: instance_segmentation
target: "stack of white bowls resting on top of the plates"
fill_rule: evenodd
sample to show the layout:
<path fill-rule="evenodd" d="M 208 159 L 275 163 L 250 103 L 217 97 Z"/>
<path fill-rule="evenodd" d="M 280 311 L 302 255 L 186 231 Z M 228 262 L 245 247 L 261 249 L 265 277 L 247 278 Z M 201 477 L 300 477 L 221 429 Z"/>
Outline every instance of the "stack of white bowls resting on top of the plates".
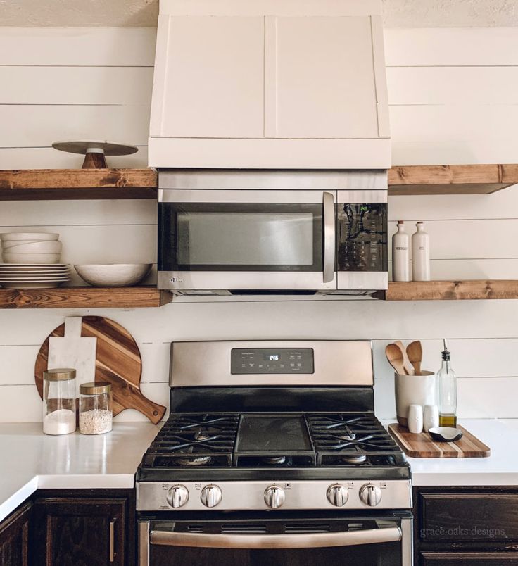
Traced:
<path fill-rule="evenodd" d="M 6 263 L 46 265 L 61 259 L 59 234 L 7 232 L 0 234 L 2 259 Z"/>

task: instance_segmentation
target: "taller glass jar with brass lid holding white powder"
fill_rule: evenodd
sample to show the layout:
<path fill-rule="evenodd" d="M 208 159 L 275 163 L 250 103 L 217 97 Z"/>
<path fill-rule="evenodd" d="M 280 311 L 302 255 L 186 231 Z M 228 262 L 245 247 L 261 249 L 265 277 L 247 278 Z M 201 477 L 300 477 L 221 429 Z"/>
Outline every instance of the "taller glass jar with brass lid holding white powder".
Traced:
<path fill-rule="evenodd" d="M 75 370 L 64 367 L 43 372 L 43 432 L 74 432 L 75 409 Z"/>

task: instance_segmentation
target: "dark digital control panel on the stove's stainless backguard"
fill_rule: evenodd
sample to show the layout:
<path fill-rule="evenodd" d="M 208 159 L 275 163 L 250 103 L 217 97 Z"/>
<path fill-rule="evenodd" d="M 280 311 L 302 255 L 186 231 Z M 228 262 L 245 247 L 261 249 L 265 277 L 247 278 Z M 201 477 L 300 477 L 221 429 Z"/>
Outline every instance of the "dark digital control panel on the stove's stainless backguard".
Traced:
<path fill-rule="evenodd" d="M 232 375 L 314 372 L 313 348 L 232 348 L 230 353 Z"/>

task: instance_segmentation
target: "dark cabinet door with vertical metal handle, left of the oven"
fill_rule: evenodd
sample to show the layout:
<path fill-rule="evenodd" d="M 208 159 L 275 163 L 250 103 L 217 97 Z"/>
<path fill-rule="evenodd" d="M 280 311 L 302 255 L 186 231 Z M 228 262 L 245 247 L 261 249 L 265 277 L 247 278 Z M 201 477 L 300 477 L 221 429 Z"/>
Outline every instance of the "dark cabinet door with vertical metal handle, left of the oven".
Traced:
<path fill-rule="evenodd" d="M 122 566 L 125 521 L 125 499 L 37 499 L 32 520 L 32 563 Z"/>

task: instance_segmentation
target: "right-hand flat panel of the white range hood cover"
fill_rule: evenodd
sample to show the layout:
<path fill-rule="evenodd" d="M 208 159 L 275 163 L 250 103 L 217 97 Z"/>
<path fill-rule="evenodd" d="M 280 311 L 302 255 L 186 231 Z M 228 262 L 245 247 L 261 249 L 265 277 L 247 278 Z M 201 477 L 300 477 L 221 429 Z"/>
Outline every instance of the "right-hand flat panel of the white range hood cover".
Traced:
<path fill-rule="evenodd" d="M 272 137 L 388 136 L 387 108 L 377 105 L 377 87 L 384 88 L 384 76 L 378 85 L 376 76 L 384 69 L 373 64 L 371 18 L 279 17 L 268 25 L 269 20 L 267 26 L 275 29 L 272 33 L 267 29 L 266 77 L 276 65 L 271 81 L 276 113 Z M 271 112 L 267 106 L 265 114 Z M 386 132 L 379 131 L 380 118 L 387 122 Z"/>

